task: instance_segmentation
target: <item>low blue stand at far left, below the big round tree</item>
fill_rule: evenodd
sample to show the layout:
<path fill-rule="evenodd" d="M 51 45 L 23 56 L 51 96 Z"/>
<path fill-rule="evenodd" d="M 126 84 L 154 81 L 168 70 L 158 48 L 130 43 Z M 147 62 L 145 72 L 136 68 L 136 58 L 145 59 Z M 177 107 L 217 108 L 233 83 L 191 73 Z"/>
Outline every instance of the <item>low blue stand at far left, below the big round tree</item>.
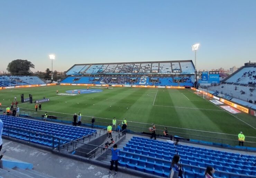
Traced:
<path fill-rule="evenodd" d="M 10 87 L 17 85 L 36 85 L 45 84 L 40 78 L 36 76 L 0 76 L 0 86 Z"/>

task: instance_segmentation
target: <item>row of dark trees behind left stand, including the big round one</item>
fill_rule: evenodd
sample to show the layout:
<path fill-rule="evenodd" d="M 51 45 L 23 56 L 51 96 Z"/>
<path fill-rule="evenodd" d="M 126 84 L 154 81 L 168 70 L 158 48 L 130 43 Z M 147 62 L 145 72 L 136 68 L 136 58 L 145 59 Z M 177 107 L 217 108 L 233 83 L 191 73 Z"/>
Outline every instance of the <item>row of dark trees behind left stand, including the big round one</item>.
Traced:
<path fill-rule="evenodd" d="M 27 76 L 38 76 L 39 78 L 51 79 L 52 71 L 47 68 L 45 72 L 36 73 L 31 72 L 30 68 L 35 68 L 35 65 L 32 64 L 28 60 L 16 59 L 10 62 L 7 66 L 7 71 L 10 72 L 11 75 L 27 75 Z M 65 77 L 65 73 L 53 71 L 53 81 L 57 81 L 58 79 L 63 79 Z"/>

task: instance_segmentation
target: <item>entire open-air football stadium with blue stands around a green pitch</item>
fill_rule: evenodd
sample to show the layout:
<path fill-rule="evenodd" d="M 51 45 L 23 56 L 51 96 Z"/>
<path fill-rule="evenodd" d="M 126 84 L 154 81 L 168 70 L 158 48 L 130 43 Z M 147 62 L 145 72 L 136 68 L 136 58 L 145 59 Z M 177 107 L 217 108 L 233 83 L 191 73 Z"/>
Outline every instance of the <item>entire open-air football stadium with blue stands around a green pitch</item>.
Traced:
<path fill-rule="evenodd" d="M 116 143 L 121 147 L 119 169 L 138 177 L 170 177 L 174 154 L 181 157 L 184 177 L 203 176 L 207 165 L 213 165 L 216 177 L 254 177 L 256 111 L 248 101 L 255 98 L 251 90 L 255 68 L 255 63 L 246 63 L 221 83 L 217 72 L 202 74 L 196 83 L 192 60 L 75 64 L 60 83 L 2 76 L 1 112 L 11 103 L 16 105 L 14 96 L 21 96 L 19 117 L 1 115 L 2 135 L 103 167 Z M 35 111 L 39 103 L 42 108 Z M 48 117 L 43 122 L 45 112 Z M 74 113 L 81 113 L 79 128 L 71 126 Z M 116 129 L 112 138 L 106 138 L 114 117 L 117 125 L 126 118 L 127 134 Z M 150 139 L 152 123 L 157 140 Z M 241 130 L 246 142 L 238 146 Z M 168 143 L 169 139 L 181 144 Z M 8 161 L 4 160 L 3 170 L 13 175 L 51 176 L 31 173 L 29 163 L 10 167 Z"/>

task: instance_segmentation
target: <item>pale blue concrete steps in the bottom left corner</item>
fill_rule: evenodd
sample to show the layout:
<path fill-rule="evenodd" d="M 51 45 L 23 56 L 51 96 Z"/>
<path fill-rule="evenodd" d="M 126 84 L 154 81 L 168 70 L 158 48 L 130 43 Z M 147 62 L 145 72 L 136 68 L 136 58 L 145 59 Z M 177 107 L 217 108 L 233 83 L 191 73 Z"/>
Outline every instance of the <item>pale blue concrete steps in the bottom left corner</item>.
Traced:
<path fill-rule="evenodd" d="M 12 169 L 3 167 L 0 169 L 0 178 L 54 178 L 52 176 L 45 175 L 33 169 L 20 169 L 14 167 Z"/>

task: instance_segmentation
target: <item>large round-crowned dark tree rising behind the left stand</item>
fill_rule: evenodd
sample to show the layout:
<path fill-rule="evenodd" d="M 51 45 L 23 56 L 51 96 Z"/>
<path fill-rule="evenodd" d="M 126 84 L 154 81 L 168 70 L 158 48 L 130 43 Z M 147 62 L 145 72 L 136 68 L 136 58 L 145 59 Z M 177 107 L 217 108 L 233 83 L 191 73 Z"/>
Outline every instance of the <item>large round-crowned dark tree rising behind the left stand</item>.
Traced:
<path fill-rule="evenodd" d="M 16 59 L 10 62 L 7 66 L 7 71 L 11 75 L 30 75 L 30 68 L 35 68 L 35 65 L 28 60 Z"/>

